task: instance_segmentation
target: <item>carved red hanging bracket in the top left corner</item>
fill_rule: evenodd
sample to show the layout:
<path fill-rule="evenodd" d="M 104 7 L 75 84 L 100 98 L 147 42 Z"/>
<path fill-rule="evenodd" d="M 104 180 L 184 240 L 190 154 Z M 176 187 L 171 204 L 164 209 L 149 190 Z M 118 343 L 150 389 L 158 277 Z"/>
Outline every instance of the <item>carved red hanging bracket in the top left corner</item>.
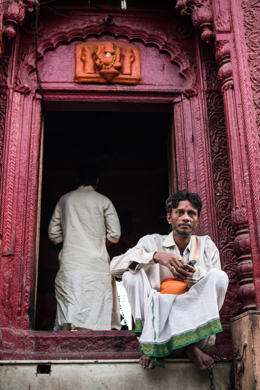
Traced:
<path fill-rule="evenodd" d="M 4 12 L 4 35 L 12 39 L 16 35 L 16 27 L 23 23 L 25 12 L 32 12 L 37 0 L 10 0 Z"/>

